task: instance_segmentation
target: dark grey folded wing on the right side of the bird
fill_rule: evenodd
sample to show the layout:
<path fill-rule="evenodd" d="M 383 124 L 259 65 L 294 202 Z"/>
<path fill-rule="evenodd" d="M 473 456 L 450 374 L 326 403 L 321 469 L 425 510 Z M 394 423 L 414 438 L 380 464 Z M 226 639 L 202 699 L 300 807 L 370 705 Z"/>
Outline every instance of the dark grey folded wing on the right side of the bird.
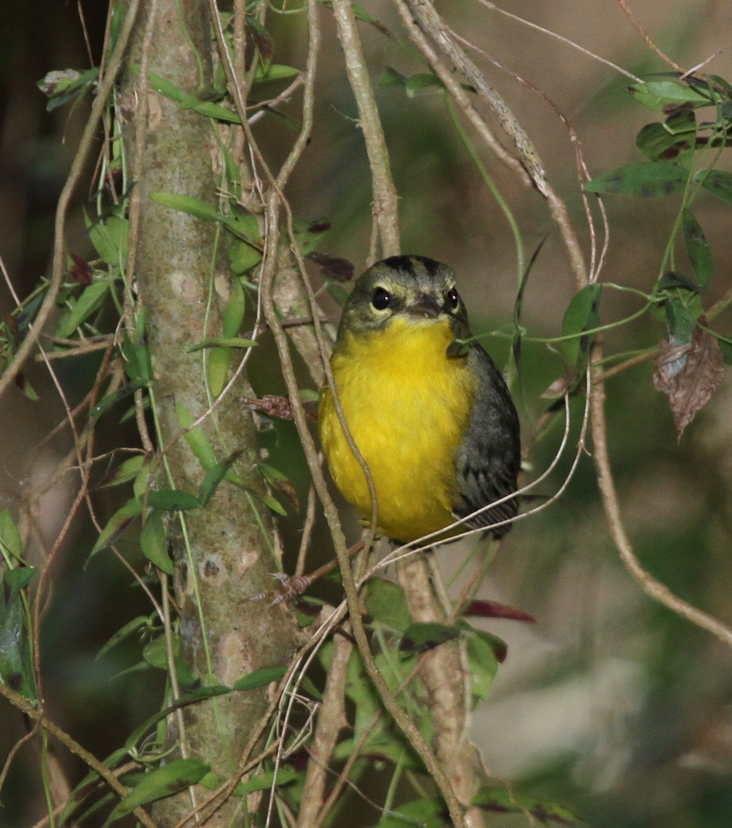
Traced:
<path fill-rule="evenodd" d="M 518 415 L 503 376 L 477 342 L 470 345 L 467 359 L 481 380 L 468 430 L 455 461 L 460 494 L 455 503 L 458 517 L 515 492 L 521 468 Z M 466 525 L 487 527 L 510 520 L 517 512 L 518 501 L 510 498 L 466 521 Z M 511 524 L 506 523 L 490 532 L 494 537 L 503 537 L 510 528 Z"/>

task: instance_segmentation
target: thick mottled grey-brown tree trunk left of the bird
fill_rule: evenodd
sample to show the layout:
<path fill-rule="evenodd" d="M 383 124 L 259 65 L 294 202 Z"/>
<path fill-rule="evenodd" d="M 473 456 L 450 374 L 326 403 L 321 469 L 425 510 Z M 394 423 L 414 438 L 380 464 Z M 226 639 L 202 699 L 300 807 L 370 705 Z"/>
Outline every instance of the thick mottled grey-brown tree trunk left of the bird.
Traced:
<path fill-rule="evenodd" d="M 157 448 L 165 449 L 169 465 L 166 485 L 193 493 L 205 471 L 180 436 L 178 412 L 182 408 L 198 418 L 209 410 L 209 351 L 189 349 L 205 337 L 221 335 L 229 277 L 216 253 L 221 240 L 215 224 L 159 205 L 150 194 L 190 195 L 215 205 L 219 181 L 213 159 L 218 149 L 209 120 L 157 94 L 146 77 L 159 75 L 185 94 L 195 94 L 211 80 L 211 44 L 206 0 L 143 2 L 118 100 L 133 176 L 132 216 L 138 210 L 132 264 L 139 304 L 147 313 Z M 264 611 L 262 604 L 245 600 L 272 588 L 270 573 L 277 563 L 272 522 L 258 500 L 265 491 L 256 469 L 257 433 L 252 416 L 238 402 L 249 393 L 242 382 L 200 427 L 219 460 L 240 455 L 234 468 L 248 492 L 224 482 L 206 508 L 186 512 L 183 522 L 170 522 L 181 655 L 204 683 L 227 686 L 258 668 L 287 663 L 296 641 L 286 604 Z M 182 755 L 203 758 L 215 772 L 228 775 L 267 703 L 264 688 L 191 705 L 182 720 L 171 720 L 169 739 Z M 205 793 L 202 789 L 199 802 Z M 186 791 L 158 802 L 157 823 L 176 824 L 190 812 L 192 798 L 195 791 Z M 230 825 L 232 819 L 238 824 L 240 808 L 240 799 L 238 804 L 229 800 L 205 824 Z"/>

